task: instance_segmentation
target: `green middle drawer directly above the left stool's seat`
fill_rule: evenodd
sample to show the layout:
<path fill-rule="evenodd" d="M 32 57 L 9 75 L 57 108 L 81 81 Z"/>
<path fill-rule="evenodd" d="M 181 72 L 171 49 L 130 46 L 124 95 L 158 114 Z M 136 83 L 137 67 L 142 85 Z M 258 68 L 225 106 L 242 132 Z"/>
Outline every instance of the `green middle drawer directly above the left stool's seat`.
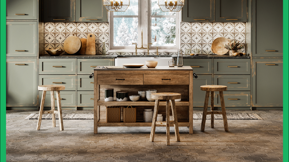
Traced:
<path fill-rule="evenodd" d="M 75 75 L 39 75 L 39 85 L 65 85 L 63 91 L 75 91 Z"/>

